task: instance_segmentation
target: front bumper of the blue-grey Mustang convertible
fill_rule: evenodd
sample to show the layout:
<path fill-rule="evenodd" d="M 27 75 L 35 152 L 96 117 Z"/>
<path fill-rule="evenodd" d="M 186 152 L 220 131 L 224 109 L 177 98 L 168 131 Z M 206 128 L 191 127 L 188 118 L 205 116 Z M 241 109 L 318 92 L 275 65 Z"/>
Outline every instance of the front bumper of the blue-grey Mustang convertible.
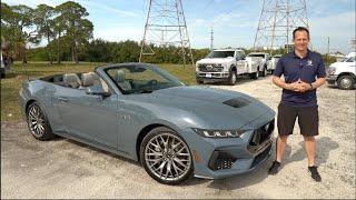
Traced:
<path fill-rule="evenodd" d="M 259 120 L 261 123 L 258 124 L 258 128 L 266 124 L 266 118 L 264 119 Z M 274 117 L 268 118 L 267 121 L 273 124 L 274 129 Z M 240 138 L 224 139 L 204 138 L 190 130 L 189 134 L 195 137 L 194 142 L 191 142 L 191 138 L 187 142 L 192 152 L 195 177 L 221 179 L 258 168 L 268 159 L 273 149 L 273 130 L 269 131 L 268 137 L 259 144 L 251 146 L 256 130 L 247 131 Z"/>

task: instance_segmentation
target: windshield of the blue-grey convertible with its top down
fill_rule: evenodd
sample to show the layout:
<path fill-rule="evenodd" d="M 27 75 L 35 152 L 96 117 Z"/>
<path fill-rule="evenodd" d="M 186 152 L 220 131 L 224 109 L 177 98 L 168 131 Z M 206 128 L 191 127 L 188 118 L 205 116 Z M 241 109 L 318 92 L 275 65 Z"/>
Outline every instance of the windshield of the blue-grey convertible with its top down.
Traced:
<path fill-rule="evenodd" d="M 123 94 L 150 93 L 155 90 L 185 86 L 168 71 L 154 66 L 121 66 L 105 71 Z"/>

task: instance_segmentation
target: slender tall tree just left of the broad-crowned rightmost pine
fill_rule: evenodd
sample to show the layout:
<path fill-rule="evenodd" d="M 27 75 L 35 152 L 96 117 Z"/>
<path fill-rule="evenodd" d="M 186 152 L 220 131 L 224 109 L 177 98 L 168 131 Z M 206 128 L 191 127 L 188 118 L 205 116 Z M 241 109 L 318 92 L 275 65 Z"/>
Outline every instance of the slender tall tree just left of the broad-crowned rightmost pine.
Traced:
<path fill-rule="evenodd" d="M 40 38 L 47 38 L 47 43 L 50 43 L 50 39 L 55 37 L 53 30 L 53 16 L 55 8 L 47 4 L 39 4 L 34 10 L 34 24 L 37 26 L 38 36 Z M 48 46 L 48 60 L 52 64 L 51 48 Z"/>

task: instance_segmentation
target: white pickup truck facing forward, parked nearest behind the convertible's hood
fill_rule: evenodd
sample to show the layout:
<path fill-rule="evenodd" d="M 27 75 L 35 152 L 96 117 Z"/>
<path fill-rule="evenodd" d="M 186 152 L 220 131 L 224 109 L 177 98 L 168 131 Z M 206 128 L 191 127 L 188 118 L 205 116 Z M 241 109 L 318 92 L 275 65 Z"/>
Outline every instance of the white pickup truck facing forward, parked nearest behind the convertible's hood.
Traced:
<path fill-rule="evenodd" d="M 253 58 L 246 58 L 240 49 L 214 50 L 196 62 L 196 80 L 198 83 L 227 81 L 234 86 L 237 76 L 249 74 L 251 79 L 258 79 L 258 64 Z"/>

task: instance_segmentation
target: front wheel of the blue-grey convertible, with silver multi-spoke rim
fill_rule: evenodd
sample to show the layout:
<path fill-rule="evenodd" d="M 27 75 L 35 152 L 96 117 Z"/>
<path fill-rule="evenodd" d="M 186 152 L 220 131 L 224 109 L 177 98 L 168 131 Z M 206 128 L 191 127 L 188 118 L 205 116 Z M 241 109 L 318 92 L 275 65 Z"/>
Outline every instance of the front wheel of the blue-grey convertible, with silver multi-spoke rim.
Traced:
<path fill-rule="evenodd" d="M 147 173 L 160 183 L 179 184 L 192 174 L 187 143 L 168 128 L 156 128 L 145 137 L 140 160 Z"/>

